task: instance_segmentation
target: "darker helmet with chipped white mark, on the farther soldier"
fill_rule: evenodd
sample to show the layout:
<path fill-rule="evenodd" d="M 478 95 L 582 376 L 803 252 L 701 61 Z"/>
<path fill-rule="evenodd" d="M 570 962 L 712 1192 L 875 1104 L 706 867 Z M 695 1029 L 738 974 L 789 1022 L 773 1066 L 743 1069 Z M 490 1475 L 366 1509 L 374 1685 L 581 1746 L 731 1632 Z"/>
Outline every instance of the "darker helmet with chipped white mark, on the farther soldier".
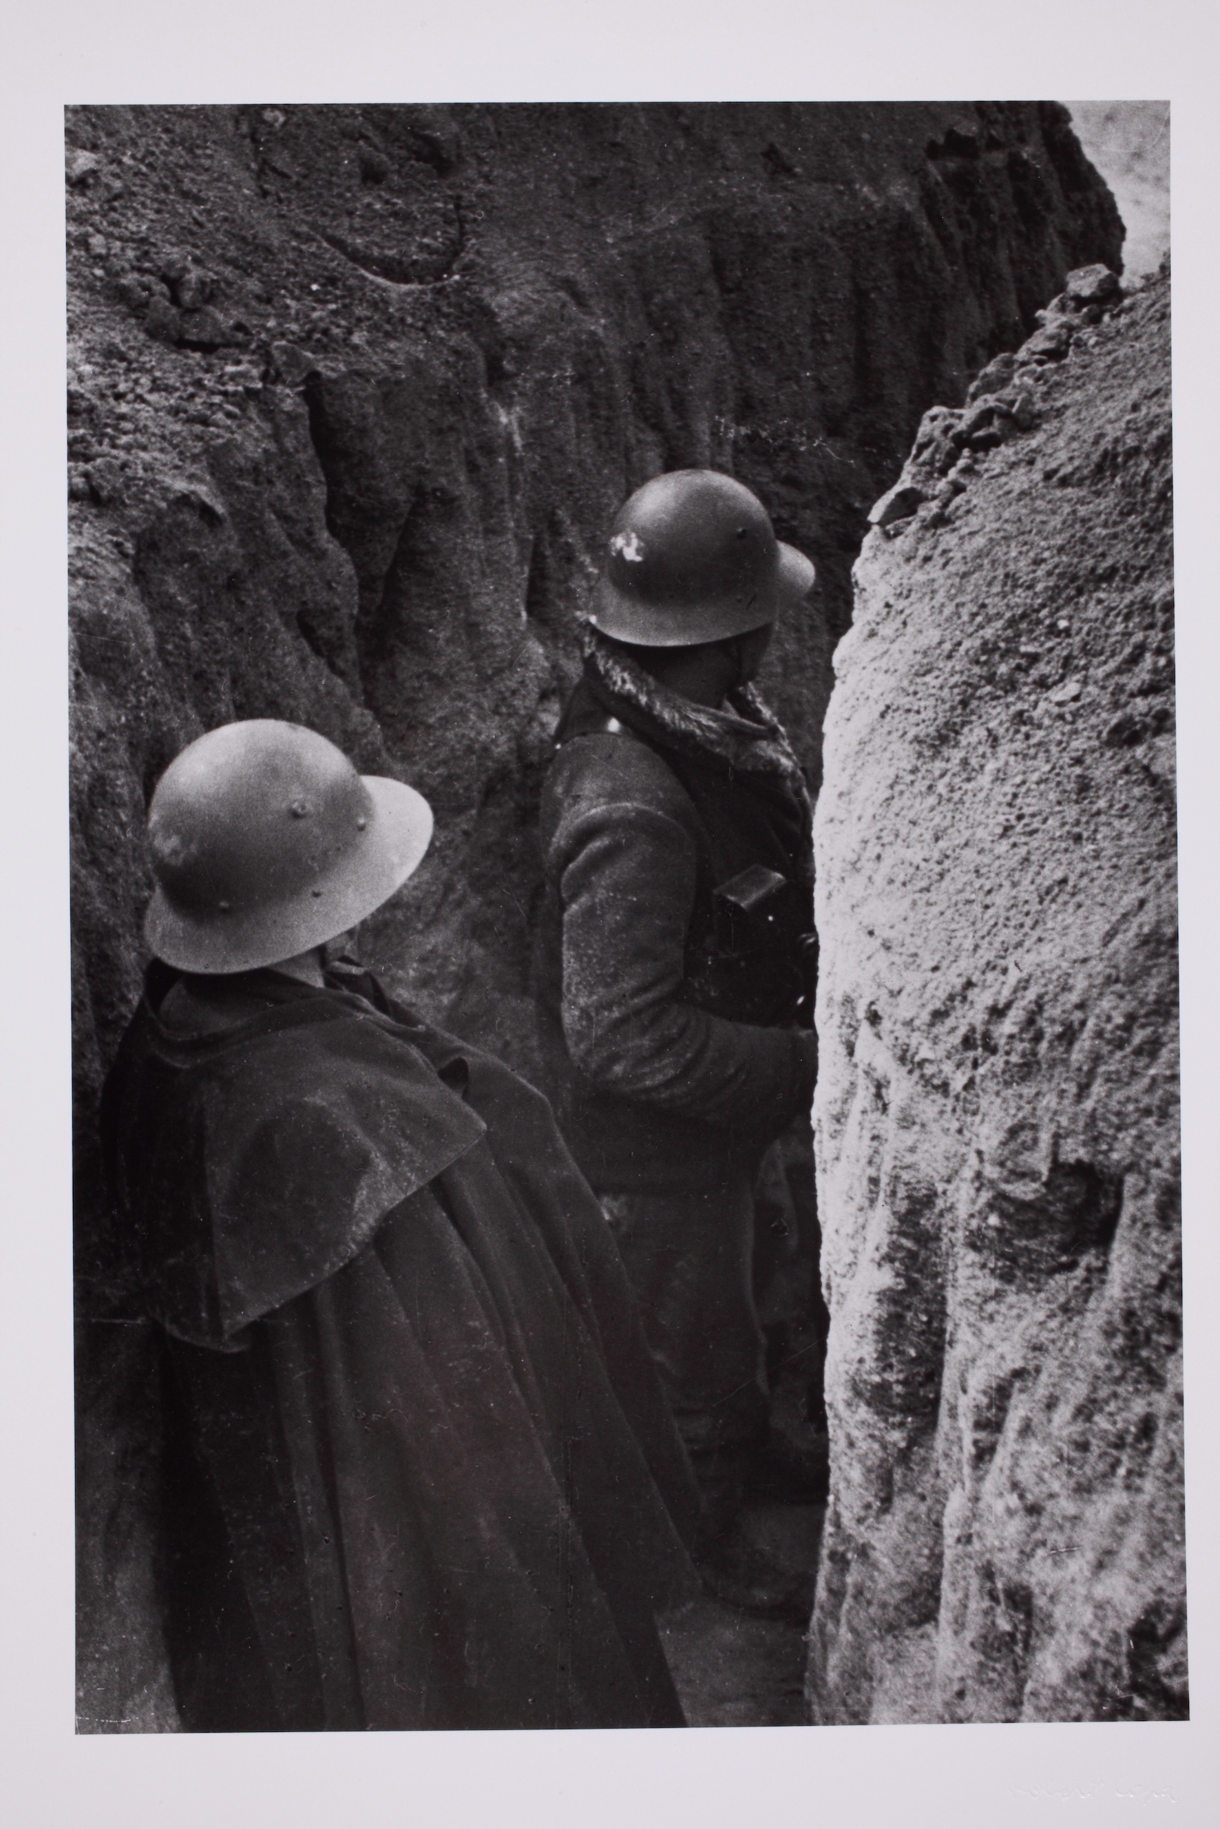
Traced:
<path fill-rule="evenodd" d="M 814 583 L 744 483 L 669 470 L 618 510 L 589 622 L 644 647 L 693 647 L 774 622 Z"/>

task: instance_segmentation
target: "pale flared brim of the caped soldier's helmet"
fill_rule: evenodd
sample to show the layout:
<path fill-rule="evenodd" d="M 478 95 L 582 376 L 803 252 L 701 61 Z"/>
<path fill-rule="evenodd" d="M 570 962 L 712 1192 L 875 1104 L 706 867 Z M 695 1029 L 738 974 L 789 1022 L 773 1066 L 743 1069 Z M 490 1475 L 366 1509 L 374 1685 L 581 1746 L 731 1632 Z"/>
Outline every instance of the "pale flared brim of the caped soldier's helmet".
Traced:
<path fill-rule="evenodd" d="M 404 781 L 362 775 L 373 818 L 355 854 L 322 872 L 304 894 L 218 916 L 176 907 L 161 885 L 144 916 L 144 940 L 179 971 L 256 971 L 307 953 L 366 920 L 419 869 L 432 841 L 432 807 Z"/>

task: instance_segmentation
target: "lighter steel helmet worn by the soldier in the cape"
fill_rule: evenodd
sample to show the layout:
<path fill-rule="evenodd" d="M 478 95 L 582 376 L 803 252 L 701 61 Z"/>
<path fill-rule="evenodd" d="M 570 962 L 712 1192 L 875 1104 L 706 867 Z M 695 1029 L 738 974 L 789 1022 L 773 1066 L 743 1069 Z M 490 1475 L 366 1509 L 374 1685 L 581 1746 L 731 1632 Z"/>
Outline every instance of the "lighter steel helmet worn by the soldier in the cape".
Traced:
<path fill-rule="evenodd" d="M 256 717 L 187 744 L 148 808 L 148 946 L 181 971 L 252 971 L 333 940 L 393 894 L 428 801 L 359 775 L 304 724 Z"/>

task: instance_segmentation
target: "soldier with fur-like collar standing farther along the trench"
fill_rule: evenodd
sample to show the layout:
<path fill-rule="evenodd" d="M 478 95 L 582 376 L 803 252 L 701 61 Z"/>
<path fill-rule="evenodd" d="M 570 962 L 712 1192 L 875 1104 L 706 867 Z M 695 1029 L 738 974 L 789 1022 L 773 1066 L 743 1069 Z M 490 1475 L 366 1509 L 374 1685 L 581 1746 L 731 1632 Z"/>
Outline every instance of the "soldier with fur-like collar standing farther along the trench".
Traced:
<path fill-rule="evenodd" d="M 803 1606 L 739 1524 L 766 1432 L 752 1291 L 759 1160 L 808 1114 L 818 1044 L 810 801 L 752 688 L 814 567 L 713 470 L 637 490 L 541 805 L 536 989 L 547 1090 L 635 1286 L 713 1551 L 752 1611 Z"/>

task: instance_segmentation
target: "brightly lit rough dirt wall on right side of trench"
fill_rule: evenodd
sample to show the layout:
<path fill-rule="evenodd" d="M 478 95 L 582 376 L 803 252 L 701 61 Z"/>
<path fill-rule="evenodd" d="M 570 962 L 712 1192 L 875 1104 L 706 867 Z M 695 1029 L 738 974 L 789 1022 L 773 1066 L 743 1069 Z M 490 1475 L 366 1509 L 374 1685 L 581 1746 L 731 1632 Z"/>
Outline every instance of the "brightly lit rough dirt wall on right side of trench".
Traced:
<path fill-rule="evenodd" d="M 874 510 L 825 726 L 808 1688 L 1180 1717 L 1167 280 L 1076 276 L 971 393 Z"/>

